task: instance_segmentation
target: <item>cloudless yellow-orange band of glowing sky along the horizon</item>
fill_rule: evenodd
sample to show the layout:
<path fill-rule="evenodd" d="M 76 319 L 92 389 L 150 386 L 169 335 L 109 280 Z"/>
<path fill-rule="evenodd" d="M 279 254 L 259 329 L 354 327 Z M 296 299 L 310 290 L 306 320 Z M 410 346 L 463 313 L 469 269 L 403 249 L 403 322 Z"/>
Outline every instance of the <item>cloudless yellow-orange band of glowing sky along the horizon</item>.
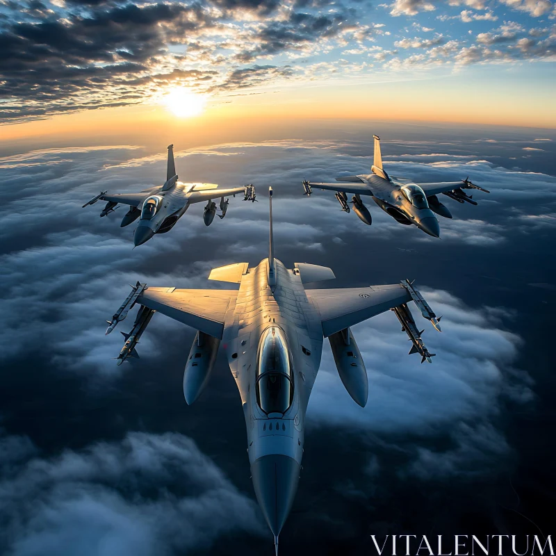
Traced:
<path fill-rule="evenodd" d="M 217 140 L 218 133 L 239 133 L 240 140 L 248 130 L 269 131 L 286 122 L 302 120 L 351 120 L 416 124 L 466 124 L 470 126 L 513 126 L 556 128 L 556 111 L 539 113 L 539 105 L 552 106 L 543 93 L 520 104 L 521 92 L 500 95 L 496 90 L 462 92 L 448 81 L 431 88 L 430 83 L 379 83 L 366 87 L 292 88 L 277 92 L 260 92 L 224 99 L 208 99 L 206 108 L 200 97 L 180 96 L 173 99 L 180 111 L 186 98 L 198 101 L 195 110 L 179 118 L 158 104 L 137 104 L 118 108 L 58 114 L 20 124 L 0 126 L 0 142 L 28 139 L 83 140 L 86 138 L 122 138 L 145 140 L 179 131 L 195 134 L 195 144 Z M 195 103 L 194 103 L 195 104 Z M 171 108 L 171 107 L 170 107 Z M 129 142 L 127 140 L 127 142 Z M 193 137 L 192 137 L 193 140 Z M 193 145 L 192 143 L 192 145 Z"/>

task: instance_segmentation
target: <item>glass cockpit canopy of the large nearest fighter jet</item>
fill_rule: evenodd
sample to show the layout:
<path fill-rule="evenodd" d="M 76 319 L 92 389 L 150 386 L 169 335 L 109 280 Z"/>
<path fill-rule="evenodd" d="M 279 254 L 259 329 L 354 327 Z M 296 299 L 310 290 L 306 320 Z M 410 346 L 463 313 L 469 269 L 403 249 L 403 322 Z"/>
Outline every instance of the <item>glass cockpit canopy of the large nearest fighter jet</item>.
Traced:
<path fill-rule="evenodd" d="M 261 336 L 255 390 L 256 401 L 265 414 L 284 414 L 293 401 L 290 353 L 279 327 L 268 327 Z"/>

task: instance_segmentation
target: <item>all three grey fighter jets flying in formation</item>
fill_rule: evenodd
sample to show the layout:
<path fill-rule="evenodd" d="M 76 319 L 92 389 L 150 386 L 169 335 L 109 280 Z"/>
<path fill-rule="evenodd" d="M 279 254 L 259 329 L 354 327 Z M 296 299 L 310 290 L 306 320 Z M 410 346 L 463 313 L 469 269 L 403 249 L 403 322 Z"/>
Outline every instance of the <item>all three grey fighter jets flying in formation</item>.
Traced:
<path fill-rule="evenodd" d="M 338 184 L 304 182 L 304 188 L 308 194 L 311 186 L 336 189 L 336 197 L 344 208 L 346 193 L 353 193 L 354 211 L 368 224 L 370 214 L 360 197 L 370 195 L 398 222 L 416 224 L 437 237 L 439 227 L 432 211 L 448 218 L 451 215 L 436 195 L 446 193 L 457 200 L 470 199 L 462 189 L 480 189 L 468 180 L 418 185 L 389 177 L 382 169 L 376 136 L 375 164 L 371 172 L 368 176 L 338 177 Z M 135 232 L 135 243 L 140 245 L 154 234 L 171 229 L 195 202 L 208 202 L 204 211 L 208 225 L 215 214 L 212 199 L 220 197 L 222 218 L 227 208 L 225 196 L 236 193 L 255 200 L 251 185 L 220 189 L 214 184 L 177 181 L 170 145 L 167 181 L 163 186 L 133 194 L 104 192 L 87 204 L 106 200 L 101 216 L 112 211 L 117 203 L 128 204 L 131 208 L 122 226 L 140 218 Z M 347 393 L 364 407 L 368 377 L 351 327 L 393 311 L 402 332 L 411 341 L 409 353 L 418 353 L 422 363 L 430 363 L 434 354 L 423 343 L 423 332 L 411 315 L 409 303 L 414 302 L 421 315 L 439 332 L 441 317 L 436 316 L 407 279 L 398 284 L 363 288 L 306 289 L 305 284 L 334 279 L 334 272 L 311 263 L 294 263 L 293 268 L 286 268 L 275 258 L 272 188 L 269 188 L 269 203 L 268 258 L 254 267 L 249 263 L 234 263 L 214 268 L 208 276 L 211 280 L 236 284 L 234 289 L 181 289 L 170 284 L 147 286 L 138 281 L 107 321 L 106 334 L 126 318 L 133 306 L 139 306 L 131 331 L 122 332 L 125 342 L 117 357 L 117 363 L 121 364 L 139 357 L 136 346 L 156 312 L 195 329 L 197 334 L 183 374 L 183 394 L 188 404 L 195 402 L 206 388 L 222 345 L 243 406 L 254 491 L 274 536 L 277 554 L 279 534 L 297 491 L 304 452 L 305 413 L 320 366 L 324 338 L 328 338 Z"/>

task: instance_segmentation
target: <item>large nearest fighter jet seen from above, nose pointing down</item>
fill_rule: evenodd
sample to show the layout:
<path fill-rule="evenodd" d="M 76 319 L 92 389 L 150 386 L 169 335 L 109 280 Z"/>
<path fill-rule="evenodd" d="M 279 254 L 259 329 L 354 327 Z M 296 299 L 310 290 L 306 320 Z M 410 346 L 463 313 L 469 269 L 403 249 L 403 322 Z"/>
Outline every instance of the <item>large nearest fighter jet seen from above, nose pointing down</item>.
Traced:
<path fill-rule="evenodd" d="M 365 363 L 351 328 L 391 309 L 411 340 L 409 353 L 421 362 L 431 354 L 409 311 L 412 300 L 440 330 L 439 320 L 409 281 L 387 286 L 305 289 L 334 278 L 325 266 L 275 259 L 270 189 L 270 252 L 250 267 L 236 263 L 214 268 L 208 279 L 239 284 L 239 289 L 178 289 L 137 282 L 108 322 L 106 334 L 139 304 L 133 328 L 124 334 L 120 364 L 139 357 L 136 345 L 156 311 L 197 330 L 183 375 L 183 394 L 193 404 L 205 389 L 220 344 L 240 393 L 247 426 L 247 452 L 254 491 L 275 539 L 290 512 L 304 451 L 305 412 L 315 382 L 322 342 L 328 338 L 347 393 L 361 407 L 368 397 Z"/>

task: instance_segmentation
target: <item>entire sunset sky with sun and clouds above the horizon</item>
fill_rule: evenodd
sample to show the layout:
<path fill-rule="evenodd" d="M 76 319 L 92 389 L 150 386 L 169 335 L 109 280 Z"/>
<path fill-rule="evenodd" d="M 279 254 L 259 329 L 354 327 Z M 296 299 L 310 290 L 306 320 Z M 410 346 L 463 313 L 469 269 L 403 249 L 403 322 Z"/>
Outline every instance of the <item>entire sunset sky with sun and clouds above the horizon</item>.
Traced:
<path fill-rule="evenodd" d="M 0 0 L 0 138 L 306 117 L 555 127 L 555 17 L 550 0 Z"/>

